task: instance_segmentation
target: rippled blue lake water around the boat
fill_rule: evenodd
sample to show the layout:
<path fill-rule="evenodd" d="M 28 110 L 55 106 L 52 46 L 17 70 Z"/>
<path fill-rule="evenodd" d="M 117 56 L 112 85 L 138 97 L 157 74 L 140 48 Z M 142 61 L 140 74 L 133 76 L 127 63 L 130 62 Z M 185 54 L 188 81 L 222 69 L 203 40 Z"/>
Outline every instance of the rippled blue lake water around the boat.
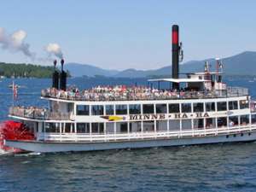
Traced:
<path fill-rule="evenodd" d="M 70 79 L 96 84 L 147 84 L 144 79 Z M 11 79 L 0 82 L 0 119 L 12 105 Z M 40 90 L 50 79 L 15 79 L 23 86 L 16 104 L 47 106 Z M 256 82 L 229 84 L 250 88 Z M 0 191 L 255 191 L 256 143 L 112 150 L 65 154 L 0 155 Z"/>

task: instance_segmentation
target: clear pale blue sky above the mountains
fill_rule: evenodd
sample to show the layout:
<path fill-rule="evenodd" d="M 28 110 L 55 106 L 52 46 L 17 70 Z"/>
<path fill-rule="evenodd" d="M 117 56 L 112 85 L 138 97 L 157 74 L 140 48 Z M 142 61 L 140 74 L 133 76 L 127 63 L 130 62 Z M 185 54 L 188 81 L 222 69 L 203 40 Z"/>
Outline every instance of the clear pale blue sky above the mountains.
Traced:
<path fill-rule="evenodd" d="M 172 63 L 173 24 L 183 62 L 255 51 L 255 9 L 253 0 L 9 0 L 1 2 L 0 27 L 9 34 L 25 31 L 26 44 L 40 58 L 56 43 L 67 62 L 154 69 Z M 0 61 L 51 64 L 9 49 L 0 49 Z"/>

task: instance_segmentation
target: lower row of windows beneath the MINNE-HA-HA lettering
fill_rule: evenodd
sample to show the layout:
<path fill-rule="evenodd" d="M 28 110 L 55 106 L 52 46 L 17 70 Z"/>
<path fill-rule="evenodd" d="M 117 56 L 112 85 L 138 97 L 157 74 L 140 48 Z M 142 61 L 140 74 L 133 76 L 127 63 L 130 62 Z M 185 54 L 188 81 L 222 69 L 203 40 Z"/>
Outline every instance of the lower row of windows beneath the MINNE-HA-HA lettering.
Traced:
<path fill-rule="evenodd" d="M 230 117 L 218 117 L 218 118 L 206 118 L 206 119 L 170 119 L 170 120 L 145 120 L 137 121 L 137 122 L 108 122 L 106 123 L 106 128 L 104 129 L 104 123 L 77 123 L 77 133 L 104 133 L 106 131 L 109 133 L 124 133 L 129 132 L 137 132 L 137 131 L 167 131 L 167 123 L 169 123 L 170 131 L 179 131 L 182 130 L 194 130 L 206 129 L 210 128 L 221 128 L 224 126 L 236 126 L 236 125 L 247 125 L 250 122 L 249 115 L 241 115 L 241 116 L 230 116 Z M 256 114 L 252 115 L 251 119 L 252 124 L 256 124 Z M 115 125 L 114 125 L 115 124 Z M 154 126 L 155 125 L 155 126 Z M 73 132 L 74 127 L 73 124 L 66 124 L 65 129 L 62 132 Z M 115 128 L 114 128 L 115 126 Z M 60 124 L 55 123 L 46 123 L 45 124 L 46 132 L 60 132 Z"/>

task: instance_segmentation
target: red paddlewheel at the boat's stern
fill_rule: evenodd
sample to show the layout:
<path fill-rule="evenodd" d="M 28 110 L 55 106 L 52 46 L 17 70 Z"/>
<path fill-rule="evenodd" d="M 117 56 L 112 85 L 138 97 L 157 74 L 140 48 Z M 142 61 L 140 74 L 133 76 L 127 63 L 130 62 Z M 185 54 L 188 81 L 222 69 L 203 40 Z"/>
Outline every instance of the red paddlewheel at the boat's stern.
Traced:
<path fill-rule="evenodd" d="M 3 140 L 34 140 L 35 137 L 26 125 L 12 120 L 0 124 L 0 149 L 8 152 L 20 153 L 20 148 L 10 148 L 3 144 Z"/>

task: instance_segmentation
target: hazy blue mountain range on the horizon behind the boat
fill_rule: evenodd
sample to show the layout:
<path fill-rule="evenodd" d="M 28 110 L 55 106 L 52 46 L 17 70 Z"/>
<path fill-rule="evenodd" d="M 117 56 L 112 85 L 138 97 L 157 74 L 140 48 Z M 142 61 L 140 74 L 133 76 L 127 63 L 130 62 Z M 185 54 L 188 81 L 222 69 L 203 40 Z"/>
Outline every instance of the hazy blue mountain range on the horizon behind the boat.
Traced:
<path fill-rule="evenodd" d="M 180 73 L 201 72 L 204 63 L 208 61 L 212 70 L 215 70 L 215 60 L 210 58 L 203 61 L 188 61 L 180 65 Z M 222 59 L 224 63 L 224 73 L 228 75 L 256 75 L 256 52 L 245 51 L 238 55 L 233 55 Z M 170 76 L 172 66 L 161 67 L 155 70 L 126 69 L 123 71 L 102 69 L 88 64 L 68 63 L 67 70 L 74 77 L 103 75 L 107 77 L 122 78 L 144 78 L 153 76 Z"/>

